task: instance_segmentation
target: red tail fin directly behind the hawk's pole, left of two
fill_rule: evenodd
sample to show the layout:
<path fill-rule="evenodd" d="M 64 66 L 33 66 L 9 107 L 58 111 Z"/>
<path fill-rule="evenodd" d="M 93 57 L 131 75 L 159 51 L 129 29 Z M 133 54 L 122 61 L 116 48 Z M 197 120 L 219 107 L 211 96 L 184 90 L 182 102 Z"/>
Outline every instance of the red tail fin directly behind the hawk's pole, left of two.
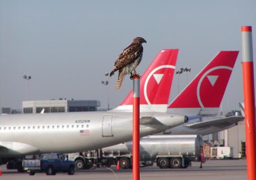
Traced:
<path fill-rule="evenodd" d="M 161 50 L 140 80 L 140 108 L 163 112 L 167 110 L 170 89 L 173 81 L 178 49 Z M 133 90 L 123 102 L 114 108 L 118 110 L 132 110 Z"/>

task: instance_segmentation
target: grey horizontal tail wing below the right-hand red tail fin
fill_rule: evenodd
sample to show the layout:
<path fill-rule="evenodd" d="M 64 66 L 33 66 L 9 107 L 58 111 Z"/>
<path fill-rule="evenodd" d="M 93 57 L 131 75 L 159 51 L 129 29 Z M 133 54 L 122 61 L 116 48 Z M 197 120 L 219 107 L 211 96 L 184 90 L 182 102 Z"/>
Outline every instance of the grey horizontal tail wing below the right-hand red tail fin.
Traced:
<path fill-rule="evenodd" d="M 224 118 L 218 118 L 218 119 L 213 119 L 213 120 L 208 120 L 208 121 L 197 122 L 197 123 L 188 124 L 188 125 L 184 125 L 184 126 L 190 127 L 192 129 L 207 128 L 210 126 L 224 128 L 224 127 L 230 126 L 234 123 L 237 123 L 239 121 L 242 121 L 243 119 L 244 119 L 244 117 L 242 117 L 242 116 L 230 116 L 230 117 L 224 117 Z"/>

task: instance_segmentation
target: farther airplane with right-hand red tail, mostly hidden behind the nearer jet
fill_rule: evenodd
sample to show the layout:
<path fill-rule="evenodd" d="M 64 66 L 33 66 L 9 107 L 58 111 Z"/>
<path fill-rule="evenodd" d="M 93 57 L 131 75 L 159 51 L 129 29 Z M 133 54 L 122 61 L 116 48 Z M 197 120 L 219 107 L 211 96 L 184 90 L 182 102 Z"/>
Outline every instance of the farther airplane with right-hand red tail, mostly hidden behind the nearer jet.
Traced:
<path fill-rule="evenodd" d="M 189 121 L 160 134 L 208 135 L 228 129 L 242 116 L 216 117 L 239 51 L 220 51 L 169 104 L 167 112 L 188 116 Z"/>

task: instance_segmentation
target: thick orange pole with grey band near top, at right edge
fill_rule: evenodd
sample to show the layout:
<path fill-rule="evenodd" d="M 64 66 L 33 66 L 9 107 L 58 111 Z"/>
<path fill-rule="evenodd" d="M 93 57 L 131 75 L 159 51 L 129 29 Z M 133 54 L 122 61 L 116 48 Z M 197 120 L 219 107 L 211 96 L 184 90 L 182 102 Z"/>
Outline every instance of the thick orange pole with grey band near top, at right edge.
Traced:
<path fill-rule="evenodd" d="M 251 26 L 242 26 L 242 74 L 248 180 L 256 180 L 255 95 Z"/>

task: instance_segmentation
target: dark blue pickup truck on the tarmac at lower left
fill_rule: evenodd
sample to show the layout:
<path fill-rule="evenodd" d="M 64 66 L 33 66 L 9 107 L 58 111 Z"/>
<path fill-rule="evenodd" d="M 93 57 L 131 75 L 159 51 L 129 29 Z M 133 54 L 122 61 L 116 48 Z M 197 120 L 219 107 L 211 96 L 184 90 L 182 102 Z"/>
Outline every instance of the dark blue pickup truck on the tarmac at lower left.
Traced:
<path fill-rule="evenodd" d="M 58 171 L 73 175 L 75 171 L 75 163 L 68 161 L 61 153 L 42 154 L 40 159 L 23 160 L 22 164 L 29 175 L 35 175 L 37 171 L 46 172 L 46 175 L 55 175 Z"/>

